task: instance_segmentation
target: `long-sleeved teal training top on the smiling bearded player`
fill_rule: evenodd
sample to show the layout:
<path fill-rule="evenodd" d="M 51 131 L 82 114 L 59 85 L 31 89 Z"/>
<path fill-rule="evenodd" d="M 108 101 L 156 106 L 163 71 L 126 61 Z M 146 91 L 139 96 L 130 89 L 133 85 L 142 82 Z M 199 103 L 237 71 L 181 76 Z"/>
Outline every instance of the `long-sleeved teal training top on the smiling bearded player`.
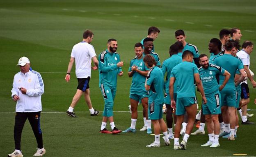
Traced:
<path fill-rule="evenodd" d="M 118 53 L 110 53 L 103 51 L 98 56 L 99 62 L 99 87 L 101 84 L 106 84 L 108 86 L 117 86 L 117 75 L 122 71 L 121 67 L 117 66 L 117 63 L 120 62 L 120 55 Z"/>

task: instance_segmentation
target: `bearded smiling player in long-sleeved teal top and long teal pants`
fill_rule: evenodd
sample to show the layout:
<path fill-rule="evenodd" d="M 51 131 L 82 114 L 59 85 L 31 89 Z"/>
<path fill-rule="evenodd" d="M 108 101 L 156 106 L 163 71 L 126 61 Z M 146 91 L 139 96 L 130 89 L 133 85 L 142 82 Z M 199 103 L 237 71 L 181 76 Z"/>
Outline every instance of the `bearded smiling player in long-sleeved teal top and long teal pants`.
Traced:
<path fill-rule="evenodd" d="M 120 61 L 120 55 L 117 51 L 117 40 L 109 39 L 107 49 L 99 56 L 99 87 L 103 95 L 105 104 L 100 133 L 117 134 L 122 131 L 114 125 L 113 105 L 117 91 L 117 75 L 122 76 L 123 62 Z M 110 122 L 111 130 L 106 129 L 107 120 Z"/>

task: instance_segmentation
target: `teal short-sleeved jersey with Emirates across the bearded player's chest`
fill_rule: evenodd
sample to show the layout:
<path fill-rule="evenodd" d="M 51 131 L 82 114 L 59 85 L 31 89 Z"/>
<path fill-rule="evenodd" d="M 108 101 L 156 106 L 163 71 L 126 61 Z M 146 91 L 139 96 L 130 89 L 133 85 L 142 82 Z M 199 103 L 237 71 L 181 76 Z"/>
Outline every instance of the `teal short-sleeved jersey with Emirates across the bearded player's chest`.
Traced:
<path fill-rule="evenodd" d="M 217 93 L 219 91 L 219 84 L 216 75 L 223 75 L 225 69 L 215 64 L 210 64 L 207 69 L 204 69 L 203 66 L 201 66 L 198 71 L 205 95 L 209 96 Z"/>

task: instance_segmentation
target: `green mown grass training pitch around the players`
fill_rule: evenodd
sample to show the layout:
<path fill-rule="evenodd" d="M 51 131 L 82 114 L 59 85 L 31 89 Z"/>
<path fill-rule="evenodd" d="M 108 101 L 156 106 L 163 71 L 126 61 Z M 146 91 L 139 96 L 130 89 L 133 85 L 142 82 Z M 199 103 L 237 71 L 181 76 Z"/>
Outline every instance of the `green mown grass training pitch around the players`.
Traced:
<path fill-rule="evenodd" d="M 43 131 L 46 157 L 203 157 L 232 156 L 233 153 L 256 155 L 254 142 L 256 125 L 241 126 L 238 138 L 233 141 L 220 139 L 216 149 L 201 148 L 207 135 L 191 136 L 186 151 L 174 151 L 171 146 L 146 148 L 153 136 L 145 132 L 101 135 L 101 114 L 97 117 L 89 113 L 77 113 L 79 118 L 65 115 L 75 94 L 77 81 L 75 69 L 71 82 L 64 77 L 74 44 L 82 40 L 82 32 L 94 32 L 94 45 L 97 54 L 106 49 L 109 38 L 118 40 L 117 52 L 124 61 L 125 75 L 118 78 L 117 96 L 114 111 L 128 111 L 131 78 L 126 75 L 128 64 L 135 56 L 133 46 L 147 35 L 150 26 L 160 29 L 155 40 L 155 51 L 161 62 L 169 56 L 169 46 L 175 42 L 174 32 L 183 29 L 187 42 L 198 47 L 200 53 L 208 53 L 208 42 L 218 38 L 220 29 L 238 27 L 242 40 L 256 43 L 256 1 L 253 0 L 13 0 L 0 1 L 0 157 L 14 150 L 13 127 L 15 104 L 11 100 L 14 74 L 19 71 L 17 61 L 27 56 L 34 70 L 39 71 L 45 84 L 42 96 L 43 112 L 41 128 Z M 251 54 L 250 69 L 256 72 L 255 52 Z M 256 109 L 253 101 L 256 90 L 251 88 L 250 109 Z M 90 81 L 91 101 L 94 108 L 103 110 L 103 98 L 98 88 L 98 71 L 93 71 Z M 139 110 L 142 108 L 139 106 Z M 88 111 L 84 100 L 80 100 L 75 111 Z M 49 113 L 52 112 L 52 113 Z M 53 113 L 60 112 L 60 113 Z M 255 111 L 249 113 L 256 114 Z M 130 126 L 130 113 L 114 113 L 116 126 L 124 130 Z M 142 114 L 139 114 L 137 129 L 142 127 Z M 256 117 L 251 121 L 256 122 Z M 109 124 L 108 124 L 109 127 Z M 36 141 L 32 130 L 26 123 L 22 136 L 24 157 L 36 151 Z"/>

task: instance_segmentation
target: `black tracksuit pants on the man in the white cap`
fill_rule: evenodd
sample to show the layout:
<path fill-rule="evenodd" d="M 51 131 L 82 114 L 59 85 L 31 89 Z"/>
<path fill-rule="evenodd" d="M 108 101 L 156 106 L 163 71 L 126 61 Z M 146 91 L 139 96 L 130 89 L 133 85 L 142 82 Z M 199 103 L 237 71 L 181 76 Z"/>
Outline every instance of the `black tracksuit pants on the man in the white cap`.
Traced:
<path fill-rule="evenodd" d="M 37 139 L 37 148 L 43 148 L 43 135 L 40 127 L 40 114 L 41 112 L 16 112 L 14 125 L 15 149 L 21 150 L 21 133 L 27 119 L 30 122 L 34 136 Z"/>

